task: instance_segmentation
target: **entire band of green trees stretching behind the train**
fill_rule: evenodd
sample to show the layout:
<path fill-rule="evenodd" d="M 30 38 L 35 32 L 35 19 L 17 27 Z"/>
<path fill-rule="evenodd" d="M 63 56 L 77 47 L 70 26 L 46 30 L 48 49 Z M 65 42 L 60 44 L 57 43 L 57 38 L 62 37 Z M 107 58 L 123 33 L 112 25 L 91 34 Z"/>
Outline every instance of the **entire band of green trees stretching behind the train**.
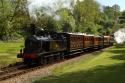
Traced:
<path fill-rule="evenodd" d="M 36 10 L 36 18 L 32 18 L 27 0 L 1 0 L 0 39 L 7 39 L 15 33 L 27 36 L 32 33 L 31 24 L 58 32 L 110 35 L 124 27 L 124 24 L 117 22 L 120 15 L 124 17 L 124 11 L 121 13 L 117 4 L 100 9 L 100 4 L 95 0 L 78 0 L 72 10 L 61 8 L 55 15 L 48 16 L 41 8 Z"/>

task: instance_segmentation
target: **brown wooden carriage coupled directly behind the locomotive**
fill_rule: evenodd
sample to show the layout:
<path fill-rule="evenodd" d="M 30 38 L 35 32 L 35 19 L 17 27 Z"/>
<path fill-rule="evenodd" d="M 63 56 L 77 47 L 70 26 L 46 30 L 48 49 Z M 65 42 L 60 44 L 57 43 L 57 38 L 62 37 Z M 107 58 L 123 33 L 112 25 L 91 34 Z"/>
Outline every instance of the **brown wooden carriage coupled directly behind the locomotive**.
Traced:
<path fill-rule="evenodd" d="M 67 55 L 83 50 L 83 35 L 75 33 L 63 33 L 67 40 Z"/>

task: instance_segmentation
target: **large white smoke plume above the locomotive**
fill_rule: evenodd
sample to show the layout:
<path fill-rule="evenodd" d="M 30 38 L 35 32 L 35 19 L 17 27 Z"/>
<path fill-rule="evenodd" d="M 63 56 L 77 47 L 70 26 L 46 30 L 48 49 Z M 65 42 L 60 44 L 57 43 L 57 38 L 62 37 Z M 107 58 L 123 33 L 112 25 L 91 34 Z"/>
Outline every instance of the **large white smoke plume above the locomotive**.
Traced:
<path fill-rule="evenodd" d="M 55 12 L 60 8 L 67 8 L 72 11 L 77 0 L 28 0 L 28 2 L 28 9 L 31 17 L 37 19 L 36 11 L 42 11 L 42 14 L 55 17 L 57 18 L 56 20 L 59 20 L 60 17 L 56 15 Z"/>

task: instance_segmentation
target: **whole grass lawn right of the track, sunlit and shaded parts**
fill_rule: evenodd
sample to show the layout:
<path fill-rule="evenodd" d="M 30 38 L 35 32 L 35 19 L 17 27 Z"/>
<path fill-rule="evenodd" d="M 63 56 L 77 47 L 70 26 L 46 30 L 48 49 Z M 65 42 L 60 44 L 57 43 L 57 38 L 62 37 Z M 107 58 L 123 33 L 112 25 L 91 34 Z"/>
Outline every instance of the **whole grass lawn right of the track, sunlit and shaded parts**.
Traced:
<path fill-rule="evenodd" d="M 124 83 L 125 48 L 93 53 L 77 63 L 60 66 L 53 73 L 34 83 Z"/>

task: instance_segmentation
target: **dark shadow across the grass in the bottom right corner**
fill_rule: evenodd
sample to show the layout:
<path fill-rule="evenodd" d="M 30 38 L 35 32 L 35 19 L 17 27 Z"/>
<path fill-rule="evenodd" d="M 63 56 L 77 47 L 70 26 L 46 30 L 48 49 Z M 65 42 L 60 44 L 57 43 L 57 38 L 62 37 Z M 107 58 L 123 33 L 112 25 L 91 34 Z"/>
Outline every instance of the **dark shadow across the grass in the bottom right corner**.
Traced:
<path fill-rule="evenodd" d="M 59 76 L 50 76 L 34 83 L 124 83 L 125 63 L 99 66 L 88 71 L 79 71 Z"/>

